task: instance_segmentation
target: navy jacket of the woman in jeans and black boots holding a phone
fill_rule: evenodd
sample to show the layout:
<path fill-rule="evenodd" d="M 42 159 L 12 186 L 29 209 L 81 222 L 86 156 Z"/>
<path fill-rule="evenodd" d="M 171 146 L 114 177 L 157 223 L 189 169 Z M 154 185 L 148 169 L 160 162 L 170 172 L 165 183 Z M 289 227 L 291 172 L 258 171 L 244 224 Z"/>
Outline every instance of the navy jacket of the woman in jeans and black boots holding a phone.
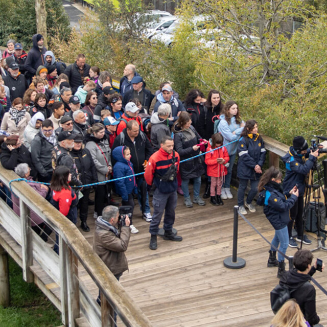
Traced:
<path fill-rule="evenodd" d="M 285 194 L 274 187 L 272 182 L 269 182 L 260 192 L 256 203 L 264 206 L 264 214 L 274 229 L 278 230 L 290 222 L 289 211 L 296 200 L 296 195 L 292 194 L 290 198 L 287 198 Z"/>

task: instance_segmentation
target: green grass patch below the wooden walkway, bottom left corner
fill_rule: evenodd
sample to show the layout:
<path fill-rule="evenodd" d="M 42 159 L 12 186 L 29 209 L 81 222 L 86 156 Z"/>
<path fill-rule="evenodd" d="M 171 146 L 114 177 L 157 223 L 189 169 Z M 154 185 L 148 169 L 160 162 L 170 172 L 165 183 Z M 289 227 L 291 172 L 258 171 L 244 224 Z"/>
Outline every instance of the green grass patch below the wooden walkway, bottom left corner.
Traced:
<path fill-rule="evenodd" d="M 0 306 L 0 327 L 55 327 L 61 313 L 34 283 L 22 279 L 22 270 L 9 257 L 11 306 Z"/>

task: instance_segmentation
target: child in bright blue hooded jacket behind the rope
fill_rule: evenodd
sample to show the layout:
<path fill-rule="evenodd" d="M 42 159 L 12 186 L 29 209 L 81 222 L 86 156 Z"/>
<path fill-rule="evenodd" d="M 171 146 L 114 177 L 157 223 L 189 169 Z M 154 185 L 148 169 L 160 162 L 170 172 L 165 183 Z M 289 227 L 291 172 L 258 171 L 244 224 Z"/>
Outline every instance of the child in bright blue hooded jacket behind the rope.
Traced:
<path fill-rule="evenodd" d="M 130 176 L 129 178 L 116 180 L 114 183 L 116 186 L 116 193 L 122 197 L 122 205 L 130 205 L 132 207 L 131 214 L 133 216 L 134 198 L 132 193 L 137 193 L 137 185 L 133 164 L 130 161 L 131 151 L 126 146 L 116 147 L 112 151 L 112 156 L 116 160 L 113 166 L 113 178 Z M 138 229 L 133 225 L 132 217 L 130 217 L 130 221 L 129 228 L 131 229 L 131 233 L 138 233 Z"/>

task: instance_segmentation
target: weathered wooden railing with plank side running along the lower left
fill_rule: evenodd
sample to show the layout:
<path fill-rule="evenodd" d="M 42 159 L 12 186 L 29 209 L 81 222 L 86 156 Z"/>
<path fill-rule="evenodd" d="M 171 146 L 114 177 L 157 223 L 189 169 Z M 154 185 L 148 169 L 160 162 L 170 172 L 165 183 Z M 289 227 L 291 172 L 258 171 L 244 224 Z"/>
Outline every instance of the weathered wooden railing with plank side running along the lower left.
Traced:
<path fill-rule="evenodd" d="M 9 187 L 9 181 L 18 178 L 13 171 L 0 166 L 0 180 Z M 113 311 L 117 313 L 125 326 L 150 327 L 151 323 L 143 312 L 128 296 L 122 285 L 116 280 L 107 266 L 102 262 L 92 247 L 82 236 L 78 228 L 26 182 L 12 182 L 12 191 L 19 197 L 20 217 L 0 200 L 0 224 L 21 247 L 21 256 L 12 251 L 12 243 L 4 238 L 4 230 L 0 233 L 0 302 L 8 303 L 8 269 L 5 251 L 13 256 L 22 267 L 27 282 L 35 282 L 41 290 L 58 307 L 65 326 L 75 326 L 81 312 L 89 325 L 113 326 Z M 59 235 L 59 255 L 46 246 L 42 239 L 31 229 L 29 212 L 32 209 Z M 7 234 L 6 234 L 7 235 Z M 60 287 L 60 300 L 41 283 L 33 273 L 35 265 L 53 279 Z M 78 265 L 82 265 L 92 281 L 101 290 L 101 308 L 78 276 Z M 83 278 L 84 280 L 84 278 Z"/>

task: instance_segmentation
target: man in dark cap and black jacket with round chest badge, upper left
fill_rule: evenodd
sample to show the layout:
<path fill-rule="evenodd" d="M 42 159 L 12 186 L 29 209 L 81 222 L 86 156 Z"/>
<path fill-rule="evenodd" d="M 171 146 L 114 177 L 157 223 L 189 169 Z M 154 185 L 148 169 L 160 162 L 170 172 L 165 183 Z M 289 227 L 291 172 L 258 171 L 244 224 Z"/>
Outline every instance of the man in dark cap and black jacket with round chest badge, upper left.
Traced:
<path fill-rule="evenodd" d="M 9 64 L 8 75 L 4 77 L 5 85 L 10 90 L 10 101 L 16 98 L 23 98 L 25 91 L 29 88 L 24 75 L 19 72 L 19 65 L 15 60 Z"/>

